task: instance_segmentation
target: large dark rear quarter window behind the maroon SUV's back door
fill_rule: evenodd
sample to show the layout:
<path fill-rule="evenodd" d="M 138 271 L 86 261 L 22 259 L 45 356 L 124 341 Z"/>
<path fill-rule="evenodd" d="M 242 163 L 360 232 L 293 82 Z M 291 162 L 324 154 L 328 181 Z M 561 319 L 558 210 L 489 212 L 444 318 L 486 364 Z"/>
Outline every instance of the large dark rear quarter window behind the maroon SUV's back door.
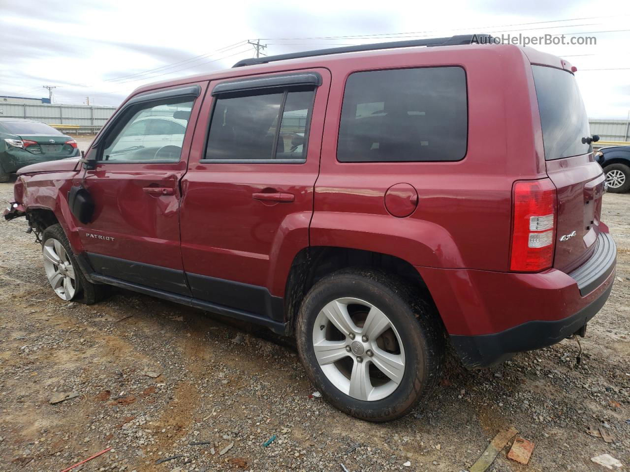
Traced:
<path fill-rule="evenodd" d="M 355 72 L 341 109 L 340 162 L 460 160 L 468 103 L 461 67 Z"/>

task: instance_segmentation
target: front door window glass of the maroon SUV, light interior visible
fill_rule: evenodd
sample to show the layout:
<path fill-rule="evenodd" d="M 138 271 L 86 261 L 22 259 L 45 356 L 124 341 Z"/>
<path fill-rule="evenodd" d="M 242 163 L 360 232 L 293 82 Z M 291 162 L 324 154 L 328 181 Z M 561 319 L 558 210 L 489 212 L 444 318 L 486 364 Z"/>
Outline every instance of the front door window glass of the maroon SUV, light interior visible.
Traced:
<path fill-rule="evenodd" d="M 179 162 L 192 106 L 190 98 L 171 98 L 133 106 L 105 138 L 100 159 L 108 162 Z M 156 140 L 157 135 L 162 139 Z M 171 140 L 168 140 L 169 136 Z"/>

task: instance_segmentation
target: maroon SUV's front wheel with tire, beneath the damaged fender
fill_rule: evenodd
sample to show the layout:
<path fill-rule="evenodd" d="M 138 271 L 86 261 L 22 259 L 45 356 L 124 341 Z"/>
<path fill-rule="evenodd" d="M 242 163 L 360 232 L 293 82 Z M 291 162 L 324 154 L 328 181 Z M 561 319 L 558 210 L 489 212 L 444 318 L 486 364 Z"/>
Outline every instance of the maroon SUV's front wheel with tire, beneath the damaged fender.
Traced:
<path fill-rule="evenodd" d="M 90 283 L 81 272 L 59 224 L 44 230 L 42 252 L 46 277 L 59 298 L 92 305 L 106 295 L 107 286 Z"/>

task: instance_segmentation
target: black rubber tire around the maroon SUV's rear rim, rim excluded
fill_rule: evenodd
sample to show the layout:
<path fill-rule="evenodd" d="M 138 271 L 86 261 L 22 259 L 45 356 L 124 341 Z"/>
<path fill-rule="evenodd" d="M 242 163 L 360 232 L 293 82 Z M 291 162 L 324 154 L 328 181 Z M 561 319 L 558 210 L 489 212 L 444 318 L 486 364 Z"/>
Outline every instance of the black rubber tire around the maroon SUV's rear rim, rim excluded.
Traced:
<path fill-rule="evenodd" d="M 314 325 L 319 312 L 329 302 L 348 297 L 364 300 L 386 313 L 404 347 L 402 381 L 384 398 L 372 401 L 353 398 L 329 380 L 317 360 L 313 331 L 321 329 Z M 403 416 L 416 403 L 427 398 L 442 375 L 445 339 L 437 313 L 403 279 L 381 271 L 343 269 L 318 281 L 299 310 L 295 337 L 299 356 L 311 382 L 329 403 L 358 419 L 384 422 Z M 348 337 L 345 339 L 342 342 L 349 342 Z M 368 351 L 365 353 L 370 355 Z M 354 354 L 351 353 L 351 356 L 354 357 Z M 352 357 L 350 362 L 356 362 L 354 359 L 357 358 Z M 369 357 L 362 357 L 367 359 L 362 362 L 370 361 Z"/>

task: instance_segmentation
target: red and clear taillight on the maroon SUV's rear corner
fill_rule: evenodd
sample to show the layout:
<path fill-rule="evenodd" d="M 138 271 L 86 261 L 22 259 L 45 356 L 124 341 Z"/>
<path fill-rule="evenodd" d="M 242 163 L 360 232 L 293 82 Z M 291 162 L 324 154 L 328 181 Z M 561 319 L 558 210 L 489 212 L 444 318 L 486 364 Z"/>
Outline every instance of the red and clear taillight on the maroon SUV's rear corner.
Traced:
<path fill-rule="evenodd" d="M 521 181 L 512 191 L 514 220 L 510 270 L 551 267 L 556 239 L 556 188 L 549 179 Z"/>

